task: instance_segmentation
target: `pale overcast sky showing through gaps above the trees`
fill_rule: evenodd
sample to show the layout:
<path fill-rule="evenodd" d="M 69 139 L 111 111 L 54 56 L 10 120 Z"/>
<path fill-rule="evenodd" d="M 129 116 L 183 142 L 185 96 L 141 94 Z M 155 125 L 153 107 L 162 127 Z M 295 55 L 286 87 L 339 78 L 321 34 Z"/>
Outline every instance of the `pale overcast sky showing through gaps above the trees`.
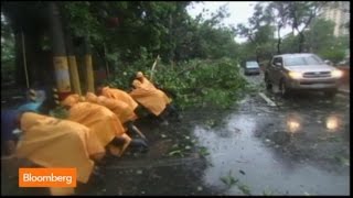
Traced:
<path fill-rule="evenodd" d="M 208 10 L 208 12 L 204 12 L 204 18 L 210 18 L 212 12 L 216 12 L 221 6 L 227 4 L 227 10 L 231 13 L 231 16 L 224 19 L 223 23 L 225 25 L 235 26 L 238 23 L 246 23 L 248 18 L 253 15 L 254 6 L 256 1 L 201 1 L 199 3 L 192 3 L 188 7 L 188 12 L 192 18 L 195 18 L 200 14 L 203 9 Z M 281 36 L 288 34 L 291 30 L 285 29 L 281 31 Z M 235 37 L 235 41 L 238 43 L 245 42 L 246 37 Z"/>

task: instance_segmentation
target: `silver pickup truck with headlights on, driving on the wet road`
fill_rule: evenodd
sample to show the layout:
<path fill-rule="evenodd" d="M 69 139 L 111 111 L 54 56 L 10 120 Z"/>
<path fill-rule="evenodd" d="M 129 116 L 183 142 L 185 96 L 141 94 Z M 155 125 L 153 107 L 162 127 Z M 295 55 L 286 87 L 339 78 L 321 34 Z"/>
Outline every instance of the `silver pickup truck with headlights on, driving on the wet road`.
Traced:
<path fill-rule="evenodd" d="M 334 96 L 341 77 L 341 70 L 314 54 L 276 55 L 265 70 L 266 88 L 277 85 L 282 96 L 292 90 L 322 90 Z"/>

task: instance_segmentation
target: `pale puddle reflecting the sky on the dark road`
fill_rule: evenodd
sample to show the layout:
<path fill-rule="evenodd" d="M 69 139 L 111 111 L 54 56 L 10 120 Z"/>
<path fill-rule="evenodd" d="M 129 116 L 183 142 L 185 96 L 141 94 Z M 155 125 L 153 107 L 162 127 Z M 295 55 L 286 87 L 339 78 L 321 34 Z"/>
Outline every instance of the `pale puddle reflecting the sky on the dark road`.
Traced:
<path fill-rule="evenodd" d="M 264 130 L 263 121 L 264 117 L 254 114 L 232 114 L 223 129 L 195 127 L 194 135 L 210 152 L 207 160 L 212 166 L 203 175 L 206 185 L 224 188 L 220 177 L 232 170 L 252 195 L 263 195 L 265 190 L 272 195 L 349 195 L 350 174 L 338 175 L 275 155 L 255 136 L 256 130 Z M 225 194 L 242 195 L 242 191 L 235 185 Z"/>

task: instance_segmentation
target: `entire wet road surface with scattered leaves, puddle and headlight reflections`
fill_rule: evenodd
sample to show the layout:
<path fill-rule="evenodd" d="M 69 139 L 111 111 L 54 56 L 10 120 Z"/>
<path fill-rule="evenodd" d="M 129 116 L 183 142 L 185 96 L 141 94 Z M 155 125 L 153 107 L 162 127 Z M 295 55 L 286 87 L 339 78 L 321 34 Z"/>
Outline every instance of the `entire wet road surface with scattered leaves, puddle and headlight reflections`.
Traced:
<path fill-rule="evenodd" d="M 104 180 L 79 185 L 77 194 L 349 195 L 350 98 L 285 100 L 264 89 L 261 76 L 247 79 L 259 89 L 228 111 L 188 111 L 168 127 L 138 123 L 150 151 L 109 158 Z M 29 194 L 15 187 L 15 177 L 6 184 L 13 185 L 2 185 L 2 195 Z"/>

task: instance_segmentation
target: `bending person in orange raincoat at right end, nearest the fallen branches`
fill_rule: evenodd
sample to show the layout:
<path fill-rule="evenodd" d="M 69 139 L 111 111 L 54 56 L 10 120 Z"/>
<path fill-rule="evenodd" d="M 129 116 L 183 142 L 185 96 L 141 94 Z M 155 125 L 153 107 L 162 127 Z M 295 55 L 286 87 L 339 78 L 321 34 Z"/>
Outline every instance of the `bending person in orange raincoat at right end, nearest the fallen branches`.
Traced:
<path fill-rule="evenodd" d="M 180 119 L 176 109 L 171 103 L 172 100 L 162 90 L 156 88 L 141 72 L 137 73 L 132 86 L 135 89 L 130 96 L 163 122 L 167 122 L 167 117 L 170 114 L 175 114 Z"/>

